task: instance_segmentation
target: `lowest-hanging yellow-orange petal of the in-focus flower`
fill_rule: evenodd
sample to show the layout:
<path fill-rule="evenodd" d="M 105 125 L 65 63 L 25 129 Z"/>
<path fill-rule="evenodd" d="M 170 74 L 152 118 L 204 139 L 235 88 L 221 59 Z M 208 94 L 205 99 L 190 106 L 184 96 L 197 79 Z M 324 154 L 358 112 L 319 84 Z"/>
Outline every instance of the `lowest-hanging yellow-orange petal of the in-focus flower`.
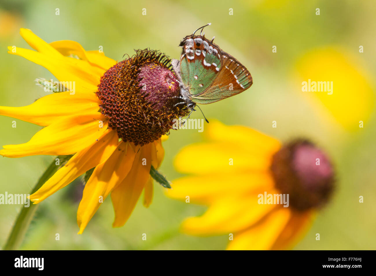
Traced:
<path fill-rule="evenodd" d="M 92 216 L 111 191 L 123 181 L 129 173 L 135 152 L 129 143 L 120 143 L 114 153 L 93 171 L 85 185 L 81 202 L 77 210 L 77 224 L 82 234 Z M 150 167 L 149 167 L 150 168 Z"/>

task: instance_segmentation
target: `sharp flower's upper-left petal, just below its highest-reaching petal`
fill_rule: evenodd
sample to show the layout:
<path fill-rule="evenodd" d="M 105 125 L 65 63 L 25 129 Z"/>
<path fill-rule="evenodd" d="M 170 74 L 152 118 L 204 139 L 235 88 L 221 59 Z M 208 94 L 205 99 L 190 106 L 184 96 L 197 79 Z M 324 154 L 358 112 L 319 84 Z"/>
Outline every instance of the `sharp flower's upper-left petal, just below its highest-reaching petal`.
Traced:
<path fill-rule="evenodd" d="M 59 81 L 71 81 L 74 84 L 76 93 L 81 91 L 96 91 L 100 81 L 100 72 L 96 72 L 85 60 L 73 59 L 70 57 L 53 57 L 36 51 L 8 47 L 9 54 L 24 57 L 38 65 L 48 69 Z M 99 68 L 97 68 L 99 69 Z M 74 83 L 73 83 L 74 81 Z"/>

